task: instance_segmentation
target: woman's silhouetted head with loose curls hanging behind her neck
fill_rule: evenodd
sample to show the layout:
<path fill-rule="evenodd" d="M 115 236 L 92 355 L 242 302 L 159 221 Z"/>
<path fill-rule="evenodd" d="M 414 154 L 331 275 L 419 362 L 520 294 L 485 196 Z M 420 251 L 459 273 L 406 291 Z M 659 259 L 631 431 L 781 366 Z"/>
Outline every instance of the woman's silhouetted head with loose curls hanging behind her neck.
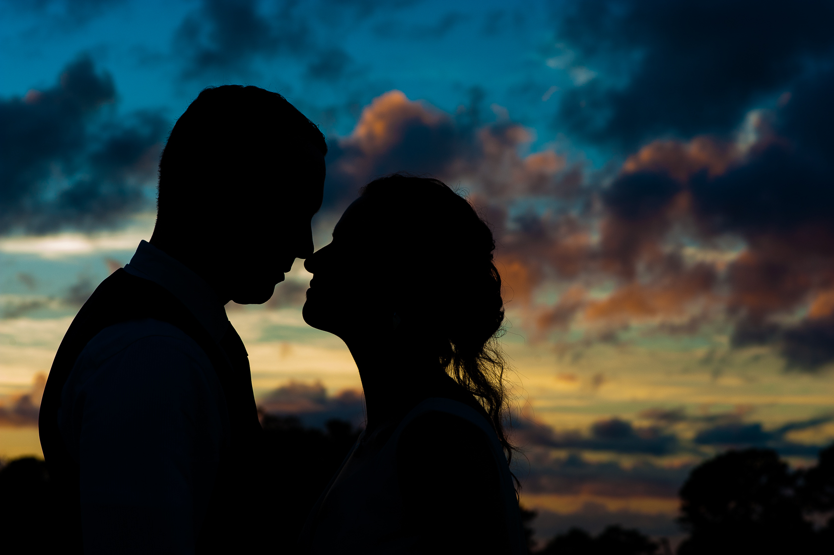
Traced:
<path fill-rule="evenodd" d="M 504 308 L 493 250 L 490 228 L 439 180 L 376 179 L 345 211 L 333 242 L 307 259 L 314 277 L 304 320 L 349 344 L 384 338 L 427 354 L 437 364 L 427 371 L 448 371 L 473 393 L 503 440 L 495 336 Z"/>

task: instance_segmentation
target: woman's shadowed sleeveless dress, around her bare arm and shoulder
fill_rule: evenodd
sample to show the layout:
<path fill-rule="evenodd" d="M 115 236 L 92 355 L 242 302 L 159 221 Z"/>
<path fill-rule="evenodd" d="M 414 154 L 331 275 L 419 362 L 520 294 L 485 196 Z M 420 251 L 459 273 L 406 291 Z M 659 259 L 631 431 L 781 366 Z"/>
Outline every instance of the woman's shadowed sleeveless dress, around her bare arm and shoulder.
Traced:
<path fill-rule="evenodd" d="M 393 432 L 382 428 L 369 436 L 365 436 L 364 432 L 359 436 L 310 512 L 299 539 L 301 552 L 316 555 L 399 555 L 416 552 L 414 545 L 417 538 L 409 535 L 403 522 L 397 479 L 397 442 L 409 422 L 430 411 L 458 416 L 484 431 L 498 467 L 510 553 L 526 555 L 515 488 L 495 431 L 478 411 L 459 401 L 441 397 L 426 399 L 415 406 Z"/>

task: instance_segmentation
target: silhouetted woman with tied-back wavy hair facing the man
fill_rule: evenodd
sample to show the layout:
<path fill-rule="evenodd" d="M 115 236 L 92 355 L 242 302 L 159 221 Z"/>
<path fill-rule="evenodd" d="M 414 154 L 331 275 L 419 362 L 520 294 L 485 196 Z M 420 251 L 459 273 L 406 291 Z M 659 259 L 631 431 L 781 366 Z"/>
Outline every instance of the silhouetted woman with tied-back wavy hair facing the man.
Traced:
<path fill-rule="evenodd" d="M 309 257 L 304 320 L 359 367 L 367 427 L 319 498 L 309 553 L 525 553 L 501 425 L 495 241 L 437 179 L 377 179 Z"/>

